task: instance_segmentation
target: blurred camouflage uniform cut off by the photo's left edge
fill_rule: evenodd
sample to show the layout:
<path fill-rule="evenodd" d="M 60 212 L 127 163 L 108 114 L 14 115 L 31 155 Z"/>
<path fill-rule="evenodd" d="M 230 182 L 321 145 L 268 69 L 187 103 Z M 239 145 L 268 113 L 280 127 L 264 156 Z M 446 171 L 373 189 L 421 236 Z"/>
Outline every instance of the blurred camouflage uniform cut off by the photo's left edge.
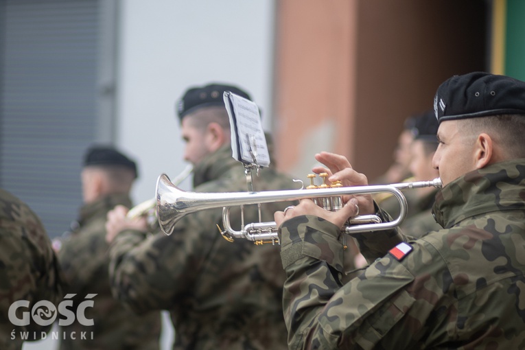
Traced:
<path fill-rule="evenodd" d="M 21 333 L 36 340 L 51 328 L 36 324 L 32 317 L 30 325 L 15 327 L 8 317 L 12 303 L 30 301 L 28 308 L 16 312 L 22 318 L 36 302 L 57 305 L 61 298 L 60 269 L 43 224 L 19 198 L 0 189 L 0 349 L 21 349 L 25 337 Z"/>

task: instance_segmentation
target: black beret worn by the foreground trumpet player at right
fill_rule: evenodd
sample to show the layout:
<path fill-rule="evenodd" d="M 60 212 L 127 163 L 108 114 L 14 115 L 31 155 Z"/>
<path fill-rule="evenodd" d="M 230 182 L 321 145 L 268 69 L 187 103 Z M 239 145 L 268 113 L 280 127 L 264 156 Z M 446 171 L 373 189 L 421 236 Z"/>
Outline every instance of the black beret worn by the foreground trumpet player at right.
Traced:
<path fill-rule="evenodd" d="M 490 115 L 525 115 L 525 82 L 485 72 L 454 75 L 439 86 L 434 113 L 440 123 Z"/>

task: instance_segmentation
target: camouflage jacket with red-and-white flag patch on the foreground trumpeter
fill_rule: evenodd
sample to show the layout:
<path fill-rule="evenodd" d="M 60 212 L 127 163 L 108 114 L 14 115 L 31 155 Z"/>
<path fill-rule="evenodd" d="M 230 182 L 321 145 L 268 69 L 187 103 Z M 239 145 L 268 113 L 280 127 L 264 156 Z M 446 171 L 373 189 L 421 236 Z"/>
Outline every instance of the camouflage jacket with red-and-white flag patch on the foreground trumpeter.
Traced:
<path fill-rule="evenodd" d="M 285 222 L 290 349 L 524 349 L 524 198 L 525 159 L 470 172 L 436 196 L 445 229 L 398 244 L 345 285 L 338 228 Z"/>

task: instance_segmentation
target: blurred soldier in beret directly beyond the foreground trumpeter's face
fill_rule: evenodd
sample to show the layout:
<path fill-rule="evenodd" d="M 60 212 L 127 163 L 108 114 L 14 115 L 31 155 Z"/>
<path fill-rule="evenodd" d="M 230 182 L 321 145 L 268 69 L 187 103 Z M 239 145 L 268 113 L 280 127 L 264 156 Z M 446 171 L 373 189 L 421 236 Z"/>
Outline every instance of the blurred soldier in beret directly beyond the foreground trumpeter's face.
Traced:
<path fill-rule="evenodd" d="M 434 110 L 417 116 L 412 134 L 414 140 L 410 146 L 412 156 L 410 158 L 410 172 L 413 181 L 428 181 L 439 177 L 439 171 L 432 165 L 432 158 L 438 146 L 437 129 L 438 121 Z M 441 226 L 432 216 L 432 205 L 434 197 L 439 190 L 435 187 L 421 187 L 410 190 L 412 195 L 412 215 L 401 223 L 401 230 L 408 237 L 420 237 L 421 235 L 441 229 Z M 381 204 L 382 209 L 384 208 Z M 386 209 L 388 213 L 388 209 Z"/>

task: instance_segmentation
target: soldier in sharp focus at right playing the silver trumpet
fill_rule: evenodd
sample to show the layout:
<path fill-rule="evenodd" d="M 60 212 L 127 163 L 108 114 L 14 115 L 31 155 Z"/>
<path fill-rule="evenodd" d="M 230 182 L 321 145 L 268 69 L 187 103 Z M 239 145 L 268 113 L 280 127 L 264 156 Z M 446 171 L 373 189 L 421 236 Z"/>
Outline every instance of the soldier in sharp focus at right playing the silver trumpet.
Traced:
<path fill-rule="evenodd" d="M 336 212 L 301 200 L 275 213 L 290 349 L 524 347 L 525 82 L 456 75 L 439 86 L 434 112 L 444 187 L 433 211 L 444 229 L 410 242 L 395 230 L 356 235 L 372 264 L 341 285 L 340 227 L 357 211 L 384 218 L 371 196 Z M 367 183 L 343 156 L 316 159 L 330 181 Z"/>

